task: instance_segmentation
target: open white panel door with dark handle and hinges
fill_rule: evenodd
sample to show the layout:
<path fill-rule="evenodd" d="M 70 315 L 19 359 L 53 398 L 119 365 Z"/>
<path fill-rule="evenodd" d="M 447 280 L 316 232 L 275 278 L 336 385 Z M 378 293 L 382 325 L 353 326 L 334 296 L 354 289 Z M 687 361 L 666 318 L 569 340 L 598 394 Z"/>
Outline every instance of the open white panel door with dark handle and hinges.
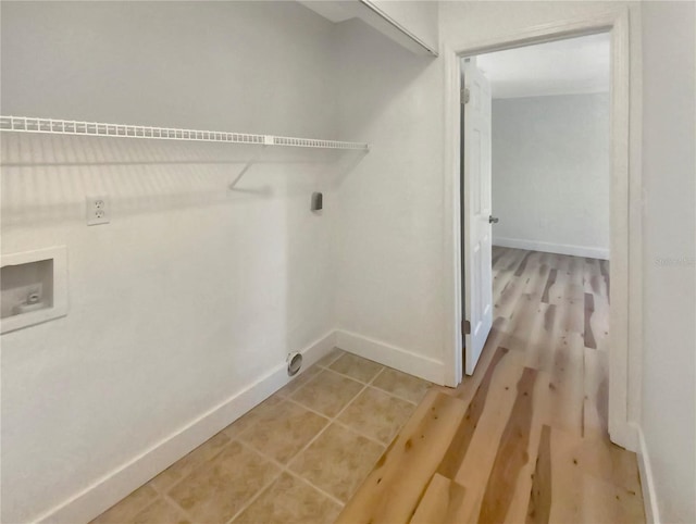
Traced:
<path fill-rule="evenodd" d="M 474 60 L 467 59 L 462 66 L 462 327 L 468 375 L 473 374 L 493 325 L 490 86 Z"/>

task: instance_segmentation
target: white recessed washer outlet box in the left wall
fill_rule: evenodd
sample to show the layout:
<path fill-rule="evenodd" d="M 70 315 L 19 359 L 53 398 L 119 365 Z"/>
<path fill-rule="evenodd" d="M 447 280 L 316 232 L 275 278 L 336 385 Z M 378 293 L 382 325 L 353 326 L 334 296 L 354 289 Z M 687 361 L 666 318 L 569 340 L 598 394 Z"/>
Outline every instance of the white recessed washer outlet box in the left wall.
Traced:
<path fill-rule="evenodd" d="M 64 246 L 3 254 L 0 260 L 1 333 L 67 314 Z"/>

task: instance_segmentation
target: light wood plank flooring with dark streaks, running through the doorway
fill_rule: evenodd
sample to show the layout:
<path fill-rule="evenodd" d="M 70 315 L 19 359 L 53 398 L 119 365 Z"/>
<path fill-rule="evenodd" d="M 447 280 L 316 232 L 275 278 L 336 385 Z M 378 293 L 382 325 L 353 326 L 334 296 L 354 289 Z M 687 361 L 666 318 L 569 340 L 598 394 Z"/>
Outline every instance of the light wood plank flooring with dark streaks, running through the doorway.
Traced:
<path fill-rule="evenodd" d="M 339 523 L 643 523 L 607 431 L 607 261 L 494 248 L 476 372 L 432 388 Z"/>

